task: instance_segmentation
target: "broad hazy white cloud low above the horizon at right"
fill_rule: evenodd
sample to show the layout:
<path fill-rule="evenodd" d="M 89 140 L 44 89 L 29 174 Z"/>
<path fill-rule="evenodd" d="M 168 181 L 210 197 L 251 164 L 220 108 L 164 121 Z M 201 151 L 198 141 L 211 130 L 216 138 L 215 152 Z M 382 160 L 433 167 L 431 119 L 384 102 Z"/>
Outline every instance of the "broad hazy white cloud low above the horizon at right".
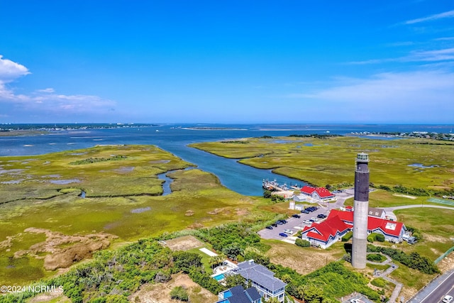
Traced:
<path fill-rule="evenodd" d="M 323 109 L 321 115 L 337 121 L 452 123 L 453 83 L 453 72 L 387 72 L 286 97 L 301 99 L 310 116 Z"/>

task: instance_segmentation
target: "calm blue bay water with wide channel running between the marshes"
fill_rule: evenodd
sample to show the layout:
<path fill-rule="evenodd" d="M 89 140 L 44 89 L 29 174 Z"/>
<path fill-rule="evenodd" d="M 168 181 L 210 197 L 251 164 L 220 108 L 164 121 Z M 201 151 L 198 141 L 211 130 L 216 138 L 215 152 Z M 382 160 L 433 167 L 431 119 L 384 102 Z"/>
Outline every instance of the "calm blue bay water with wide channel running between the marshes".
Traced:
<path fill-rule="evenodd" d="M 194 129 L 211 128 L 211 129 Z M 216 128 L 216 129 L 214 129 Z M 289 136 L 292 134 L 339 134 L 352 132 L 410 132 L 428 131 L 449 133 L 452 126 L 427 125 L 347 125 L 347 124 L 298 124 L 298 125 L 163 125 L 142 128 L 87 129 L 54 131 L 40 136 L 0 137 L 0 156 L 40 155 L 62 150 L 89 148 L 101 144 L 153 144 L 163 150 L 192 162 L 201 170 L 216 175 L 221 183 L 240 194 L 262 195 L 262 180 L 279 183 L 302 184 L 299 180 L 276 175 L 269 170 L 259 170 L 242 165 L 234 159 L 221 158 L 195 148 L 190 143 L 219 141 L 246 137 Z M 389 139 L 384 138 L 383 139 Z"/>

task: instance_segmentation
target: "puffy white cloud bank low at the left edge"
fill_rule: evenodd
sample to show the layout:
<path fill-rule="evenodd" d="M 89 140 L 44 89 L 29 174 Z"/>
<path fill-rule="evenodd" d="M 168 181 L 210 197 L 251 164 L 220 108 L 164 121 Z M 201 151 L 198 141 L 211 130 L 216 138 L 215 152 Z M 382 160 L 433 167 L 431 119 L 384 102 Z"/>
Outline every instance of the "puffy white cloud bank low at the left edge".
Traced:
<path fill-rule="evenodd" d="M 78 114 L 104 114 L 116 105 L 114 101 L 97 96 L 57 94 L 52 88 L 38 89 L 32 94 L 15 94 L 8 83 L 28 74 L 30 72 L 25 66 L 2 59 L 0 55 L 0 103 L 5 108 L 23 114 L 33 113 L 45 117 L 58 114 L 70 117 Z"/>

